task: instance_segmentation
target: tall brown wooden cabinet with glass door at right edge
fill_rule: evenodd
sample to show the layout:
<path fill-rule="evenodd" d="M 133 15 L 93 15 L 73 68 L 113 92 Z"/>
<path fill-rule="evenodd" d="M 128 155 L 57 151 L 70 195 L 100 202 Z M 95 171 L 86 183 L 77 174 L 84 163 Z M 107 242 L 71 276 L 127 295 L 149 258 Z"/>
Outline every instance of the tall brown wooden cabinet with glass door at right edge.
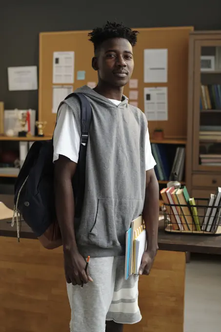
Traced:
<path fill-rule="evenodd" d="M 186 184 L 209 198 L 221 187 L 221 31 L 190 33 Z"/>

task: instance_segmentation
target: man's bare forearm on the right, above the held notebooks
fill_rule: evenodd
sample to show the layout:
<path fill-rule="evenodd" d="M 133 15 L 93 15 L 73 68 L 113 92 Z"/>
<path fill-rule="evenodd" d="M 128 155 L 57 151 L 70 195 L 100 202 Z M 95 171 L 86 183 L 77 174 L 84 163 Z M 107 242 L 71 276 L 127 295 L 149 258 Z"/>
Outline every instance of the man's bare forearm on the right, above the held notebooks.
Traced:
<path fill-rule="evenodd" d="M 146 184 L 142 215 L 147 231 L 147 250 L 157 250 L 159 226 L 159 184 L 155 174 L 150 177 L 149 183 Z"/>

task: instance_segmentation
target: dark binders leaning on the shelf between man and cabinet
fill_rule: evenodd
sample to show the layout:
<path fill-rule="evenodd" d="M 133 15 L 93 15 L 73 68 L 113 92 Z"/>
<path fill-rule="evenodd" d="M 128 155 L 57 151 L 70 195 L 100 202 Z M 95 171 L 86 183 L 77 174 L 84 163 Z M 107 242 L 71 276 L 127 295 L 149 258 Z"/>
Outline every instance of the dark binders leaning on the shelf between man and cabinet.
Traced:
<path fill-rule="evenodd" d="M 185 165 L 185 148 L 177 147 L 172 169 L 169 166 L 168 156 L 165 146 L 161 144 L 151 144 L 153 157 L 157 163 L 155 172 L 158 180 L 168 181 L 174 172 L 178 175 L 178 181 L 183 178 Z"/>

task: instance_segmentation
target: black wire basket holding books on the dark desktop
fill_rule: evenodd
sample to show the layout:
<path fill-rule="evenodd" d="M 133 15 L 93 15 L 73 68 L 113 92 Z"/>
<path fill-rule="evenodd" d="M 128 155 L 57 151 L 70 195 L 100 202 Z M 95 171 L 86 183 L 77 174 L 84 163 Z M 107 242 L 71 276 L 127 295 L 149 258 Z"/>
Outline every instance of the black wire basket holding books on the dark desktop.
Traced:
<path fill-rule="evenodd" d="M 221 206 L 195 198 L 195 205 L 164 203 L 164 229 L 170 233 L 221 235 Z"/>

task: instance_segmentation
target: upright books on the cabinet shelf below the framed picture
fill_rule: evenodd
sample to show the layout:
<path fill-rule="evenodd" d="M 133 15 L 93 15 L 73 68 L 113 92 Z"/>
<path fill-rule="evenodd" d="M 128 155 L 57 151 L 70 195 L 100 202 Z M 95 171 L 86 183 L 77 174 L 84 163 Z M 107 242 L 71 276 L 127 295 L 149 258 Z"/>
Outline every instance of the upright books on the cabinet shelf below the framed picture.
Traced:
<path fill-rule="evenodd" d="M 221 109 L 221 84 L 201 85 L 201 110 Z"/>

